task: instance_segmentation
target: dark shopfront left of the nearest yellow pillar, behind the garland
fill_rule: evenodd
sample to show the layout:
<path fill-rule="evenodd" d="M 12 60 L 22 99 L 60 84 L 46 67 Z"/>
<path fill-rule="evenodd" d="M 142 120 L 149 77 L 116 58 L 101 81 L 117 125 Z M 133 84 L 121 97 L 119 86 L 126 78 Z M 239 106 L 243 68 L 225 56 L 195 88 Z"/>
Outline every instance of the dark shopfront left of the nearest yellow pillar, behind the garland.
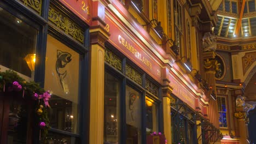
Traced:
<path fill-rule="evenodd" d="M 87 143 L 88 25 L 57 1 L 0 2 L 0 68 L 14 70 L 51 93 L 49 135 L 39 141 L 34 101 L 0 94 L 0 143 Z M 55 17 L 53 17 L 53 14 Z M 56 20 L 65 18 L 76 30 L 67 33 Z M 49 21 L 48 21 L 49 20 Z M 65 63 L 65 64 L 63 64 Z"/>

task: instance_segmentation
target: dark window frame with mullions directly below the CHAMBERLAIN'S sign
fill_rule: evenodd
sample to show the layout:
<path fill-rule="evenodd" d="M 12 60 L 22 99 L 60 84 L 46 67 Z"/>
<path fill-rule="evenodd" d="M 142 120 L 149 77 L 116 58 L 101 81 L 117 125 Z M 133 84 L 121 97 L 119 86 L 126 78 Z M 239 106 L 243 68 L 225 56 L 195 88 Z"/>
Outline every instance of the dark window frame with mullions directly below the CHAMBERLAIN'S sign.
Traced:
<path fill-rule="evenodd" d="M 108 64 L 108 62 L 104 62 L 104 70 L 117 77 L 117 79 L 120 80 L 120 99 L 119 99 L 119 143 L 126 143 L 126 86 L 129 86 L 133 88 L 135 91 L 137 91 L 139 94 L 141 94 L 141 140 L 142 143 L 146 143 L 146 97 L 149 97 L 150 99 L 155 100 L 155 104 L 157 107 L 157 118 L 158 118 L 158 131 L 162 131 L 161 127 L 161 113 L 160 113 L 160 106 L 161 106 L 161 86 L 159 83 L 154 81 L 150 76 L 146 74 L 142 69 L 140 69 L 136 64 L 134 64 L 130 59 L 126 58 L 123 53 L 115 49 L 115 47 L 108 42 L 105 43 L 106 49 L 113 52 L 115 55 L 117 55 L 121 61 L 122 61 L 122 70 L 119 71 L 116 68 L 114 68 L 112 65 Z M 135 81 L 131 80 L 125 73 L 125 65 L 129 64 L 133 69 L 136 69 L 139 74 L 142 76 L 142 85 L 139 85 Z M 159 89 L 159 97 L 155 97 L 151 93 L 147 91 L 145 88 L 145 82 L 146 79 L 150 80 L 150 82 L 153 82 L 156 86 L 158 86 Z"/>

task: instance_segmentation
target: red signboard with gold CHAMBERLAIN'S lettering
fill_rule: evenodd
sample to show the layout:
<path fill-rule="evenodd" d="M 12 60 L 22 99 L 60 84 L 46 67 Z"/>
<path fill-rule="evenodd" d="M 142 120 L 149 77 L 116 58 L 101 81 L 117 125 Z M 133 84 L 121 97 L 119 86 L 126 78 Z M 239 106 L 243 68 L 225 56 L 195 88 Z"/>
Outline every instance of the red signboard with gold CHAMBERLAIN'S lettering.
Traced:
<path fill-rule="evenodd" d="M 126 57 L 136 63 L 156 81 L 162 83 L 161 67 L 142 47 L 121 29 L 110 17 L 106 16 L 106 30 L 110 33 L 109 41 Z"/>

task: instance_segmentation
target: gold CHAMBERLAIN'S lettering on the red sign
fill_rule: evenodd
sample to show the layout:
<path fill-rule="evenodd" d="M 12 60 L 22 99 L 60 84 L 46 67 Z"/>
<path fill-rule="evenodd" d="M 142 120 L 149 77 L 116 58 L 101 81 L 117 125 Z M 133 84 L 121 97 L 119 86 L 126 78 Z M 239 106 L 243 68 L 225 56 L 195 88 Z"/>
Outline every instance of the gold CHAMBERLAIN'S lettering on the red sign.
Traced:
<path fill-rule="evenodd" d="M 127 40 L 121 37 L 121 35 L 118 35 L 118 42 L 129 50 L 139 61 L 152 69 L 152 63 L 146 57 L 142 56 L 141 53 L 139 53 L 138 50 L 135 49 Z"/>

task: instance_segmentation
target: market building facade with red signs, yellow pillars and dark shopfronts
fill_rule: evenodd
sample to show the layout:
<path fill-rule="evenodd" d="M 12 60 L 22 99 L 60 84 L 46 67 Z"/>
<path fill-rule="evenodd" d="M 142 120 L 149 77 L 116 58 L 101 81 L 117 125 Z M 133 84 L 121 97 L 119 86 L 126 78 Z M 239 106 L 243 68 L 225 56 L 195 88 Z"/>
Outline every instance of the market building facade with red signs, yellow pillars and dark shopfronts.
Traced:
<path fill-rule="evenodd" d="M 1 1 L 1 71 L 51 94 L 42 140 L 34 101 L 1 91 L 1 143 L 220 142 L 214 5 Z"/>

